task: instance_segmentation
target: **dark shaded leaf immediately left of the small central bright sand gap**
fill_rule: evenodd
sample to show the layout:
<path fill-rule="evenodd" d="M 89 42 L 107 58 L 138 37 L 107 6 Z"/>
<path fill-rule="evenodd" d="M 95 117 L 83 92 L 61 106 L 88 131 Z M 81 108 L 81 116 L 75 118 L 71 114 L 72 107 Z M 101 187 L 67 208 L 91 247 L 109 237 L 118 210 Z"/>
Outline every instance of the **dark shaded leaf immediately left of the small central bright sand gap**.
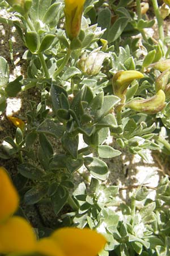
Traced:
<path fill-rule="evenodd" d="M 62 146 L 67 152 L 77 159 L 78 154 L 79 137 L 72 135 L 71 133 L 65 133 L 62 137 Z"/>

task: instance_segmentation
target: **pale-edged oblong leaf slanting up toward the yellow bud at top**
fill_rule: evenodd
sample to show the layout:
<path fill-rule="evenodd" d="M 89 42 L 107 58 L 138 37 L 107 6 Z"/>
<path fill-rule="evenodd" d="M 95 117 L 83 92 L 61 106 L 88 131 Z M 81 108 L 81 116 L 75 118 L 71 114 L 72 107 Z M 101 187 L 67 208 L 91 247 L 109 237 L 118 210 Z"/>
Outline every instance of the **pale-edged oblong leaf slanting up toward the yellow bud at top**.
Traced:
<path fill-rule="evenodd" d="M 42 22 L 49 24 L 51 22 L 53 22 L 53 20 L 56 18 L 58 11 L 61 10 L 61 6 L 62 4 L 59 3 L 53 3 L 53 5 L 51 5 L 48 10 L 46 11 Z"/>

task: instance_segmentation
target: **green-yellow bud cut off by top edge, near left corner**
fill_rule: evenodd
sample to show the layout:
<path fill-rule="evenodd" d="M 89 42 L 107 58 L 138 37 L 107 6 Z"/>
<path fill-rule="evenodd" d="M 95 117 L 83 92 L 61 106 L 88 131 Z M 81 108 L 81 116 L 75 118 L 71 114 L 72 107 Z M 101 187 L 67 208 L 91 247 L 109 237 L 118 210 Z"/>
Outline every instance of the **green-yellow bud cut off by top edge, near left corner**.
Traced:
<path fill-rule="evenodd" d="M 6 2 L 22 15 L 28 13 L 32 5 L 32 0 L 6 0 Z"/>

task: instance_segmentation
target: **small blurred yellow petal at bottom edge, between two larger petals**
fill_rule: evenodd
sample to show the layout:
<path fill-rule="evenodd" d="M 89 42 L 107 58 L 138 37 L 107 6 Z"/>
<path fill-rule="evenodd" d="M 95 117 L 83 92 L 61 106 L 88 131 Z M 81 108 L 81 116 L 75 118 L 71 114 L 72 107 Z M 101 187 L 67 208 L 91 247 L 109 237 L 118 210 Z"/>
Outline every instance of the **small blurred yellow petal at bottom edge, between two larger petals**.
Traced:
<path fill-rule="evenodd" d="M 42 238 L 37 242 L 36 253 L 49 256 L 65 256 L 56 241 L 50 238 Z"/>

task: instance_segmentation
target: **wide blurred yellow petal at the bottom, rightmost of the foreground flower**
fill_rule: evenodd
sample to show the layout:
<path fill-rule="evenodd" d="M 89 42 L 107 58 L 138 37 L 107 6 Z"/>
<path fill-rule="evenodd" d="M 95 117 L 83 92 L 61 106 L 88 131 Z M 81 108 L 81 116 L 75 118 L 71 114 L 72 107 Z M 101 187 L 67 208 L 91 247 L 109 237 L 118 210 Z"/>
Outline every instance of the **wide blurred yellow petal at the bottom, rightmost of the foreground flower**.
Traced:
<path fill-rule="evenodd" d="M 105 238 L 91 229 L 62 228 L 52 234 L 66 256 L 96 256 Z"/>

